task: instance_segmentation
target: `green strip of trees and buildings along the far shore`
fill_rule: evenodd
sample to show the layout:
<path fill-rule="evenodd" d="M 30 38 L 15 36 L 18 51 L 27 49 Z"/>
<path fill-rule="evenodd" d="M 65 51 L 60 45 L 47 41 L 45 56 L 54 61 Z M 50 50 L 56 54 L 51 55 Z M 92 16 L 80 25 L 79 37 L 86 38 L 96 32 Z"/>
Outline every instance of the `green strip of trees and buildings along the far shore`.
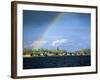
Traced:
<path fill-rule="evenodd" d="M 90 55 L 91 50 L 86 48 L 86 49 L 80 49 L 77 51 L 69 52 L 67 50 L 60 50 L 59 48 L 57 49 L 44 49 L 44 48 L 39 48 L 39 49 L 28 49 L 24 48 L 23 49 L 23 55 L 24 56 L 84 56 L 84 55 Z"/>

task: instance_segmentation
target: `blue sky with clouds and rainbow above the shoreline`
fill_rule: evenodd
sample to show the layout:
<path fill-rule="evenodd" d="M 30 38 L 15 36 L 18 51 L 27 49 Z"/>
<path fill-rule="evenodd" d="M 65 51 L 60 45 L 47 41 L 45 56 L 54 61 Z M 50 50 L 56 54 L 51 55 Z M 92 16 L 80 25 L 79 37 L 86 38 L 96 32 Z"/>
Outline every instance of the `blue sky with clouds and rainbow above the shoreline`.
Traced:
<path fill-rule="evenodd" d="M 23 11 L 24 48 L 90 48 L 90 14 Z"/>

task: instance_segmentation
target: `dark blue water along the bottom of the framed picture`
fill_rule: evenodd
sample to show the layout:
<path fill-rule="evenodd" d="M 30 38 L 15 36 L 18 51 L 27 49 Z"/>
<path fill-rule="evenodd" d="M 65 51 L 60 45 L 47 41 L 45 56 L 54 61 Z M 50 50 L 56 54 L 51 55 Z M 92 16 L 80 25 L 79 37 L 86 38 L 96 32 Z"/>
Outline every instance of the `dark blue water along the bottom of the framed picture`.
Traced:
<path fill-rule="evenodd" d="M 23 58 L 23 69 L 90 66 L 90 56 L 48 56 Z"/>

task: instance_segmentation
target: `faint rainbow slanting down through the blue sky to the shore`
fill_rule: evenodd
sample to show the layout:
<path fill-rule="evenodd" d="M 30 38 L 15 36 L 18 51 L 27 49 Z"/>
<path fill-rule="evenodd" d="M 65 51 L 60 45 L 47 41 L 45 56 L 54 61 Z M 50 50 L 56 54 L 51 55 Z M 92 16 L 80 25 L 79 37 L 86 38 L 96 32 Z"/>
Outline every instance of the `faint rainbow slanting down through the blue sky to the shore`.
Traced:
<path fill-rule="evenodd" d="M 47 36 L 47 33 L 49 32 L 49 30 L 52 28 L 52 26 L 57 23 L 60 18 L 64 15 L 64 13 L 58 13 L 58 15 L 56 15 L 51 22 L 47 25 L 46 29 L 44 30 L 44 33 L 42 33 L 42 36 L 37 38 L 36 41 L 41 42 L 44 40 L 44 38 Z M 42 43 L 36 43 L 34 41 L 34 43 L 32 43 L 32 47 L 33 48 L 39 48 L 41 47 Z"/>

